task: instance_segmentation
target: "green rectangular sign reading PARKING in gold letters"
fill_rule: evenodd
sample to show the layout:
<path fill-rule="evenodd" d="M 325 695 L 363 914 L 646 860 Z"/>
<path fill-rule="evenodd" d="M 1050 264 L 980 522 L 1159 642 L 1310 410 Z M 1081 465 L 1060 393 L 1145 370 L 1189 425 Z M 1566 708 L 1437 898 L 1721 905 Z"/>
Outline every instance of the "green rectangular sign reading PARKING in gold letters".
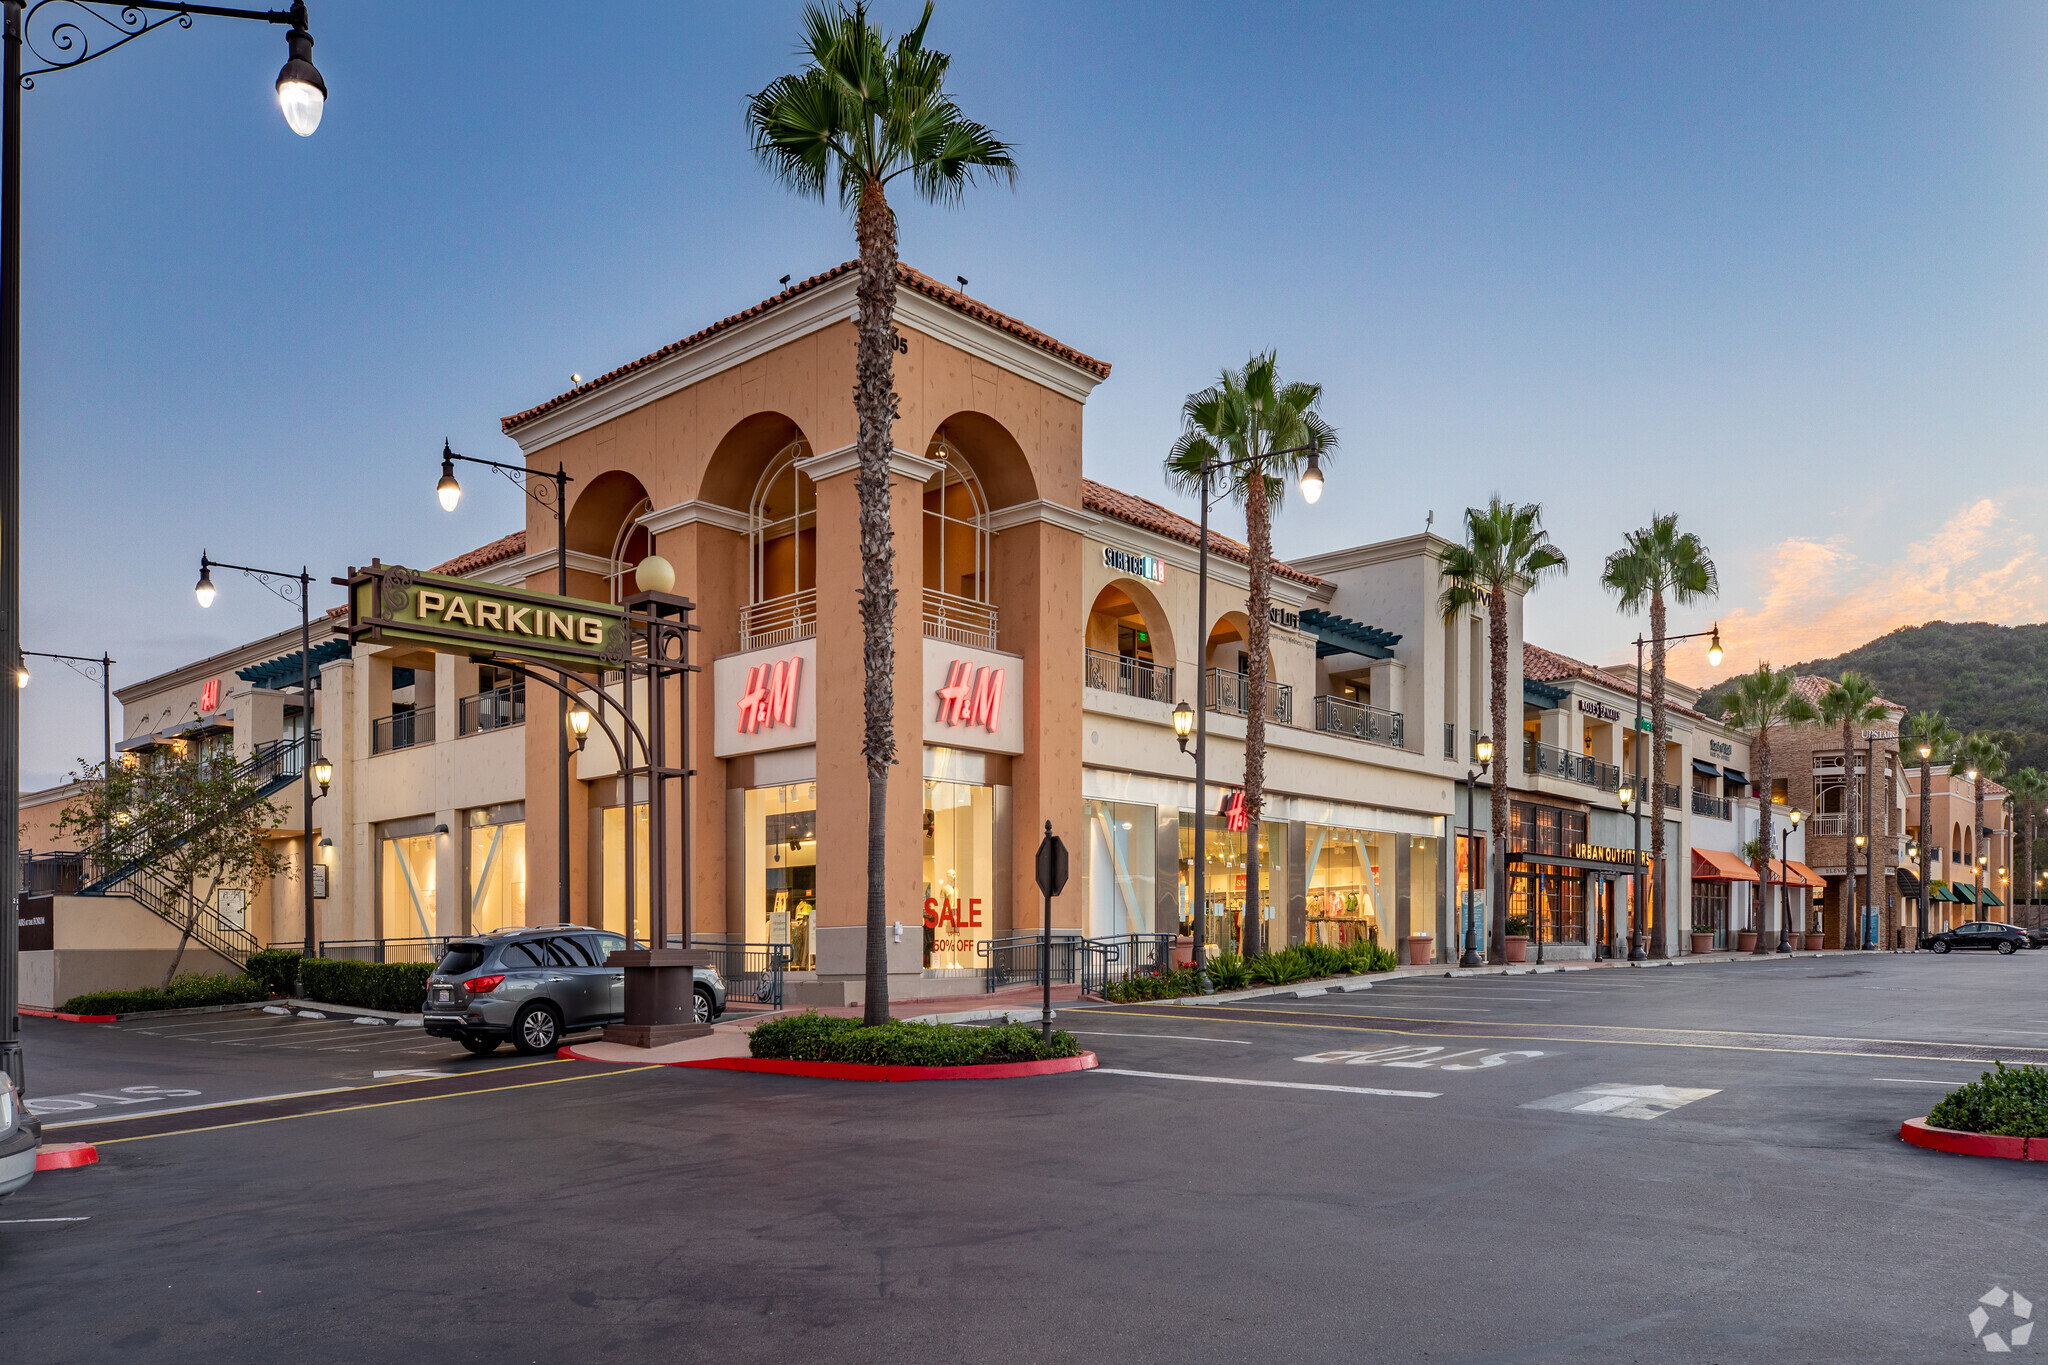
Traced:
<path fill-rule="evenodd" d="M 440 653 L 494 653 L 571 669 L 625 663 L 625 612 L 604 602 L 555 598 L 373 561 L 348 579 L 350 643 L 426 645 Z"/>

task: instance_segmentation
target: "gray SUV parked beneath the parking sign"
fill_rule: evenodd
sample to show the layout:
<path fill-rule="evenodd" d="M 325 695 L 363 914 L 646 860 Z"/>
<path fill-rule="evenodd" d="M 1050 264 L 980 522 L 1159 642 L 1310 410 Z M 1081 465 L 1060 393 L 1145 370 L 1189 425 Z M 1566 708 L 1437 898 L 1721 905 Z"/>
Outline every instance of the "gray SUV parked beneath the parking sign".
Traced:
<path fill-rule="evenodd" d="M 453 1038 L 477 1056 L 510 1042 L 532 1056 L 563 1033 L 627 1017 L 625 968 L 604 962 L 631 943 L 588 925 L 494 929 L 455 939 L 426 978 L 422 1009 L 432 1038 Z M 725 978 L 696 968 L 696 1021 L 725 1013 Z"/>

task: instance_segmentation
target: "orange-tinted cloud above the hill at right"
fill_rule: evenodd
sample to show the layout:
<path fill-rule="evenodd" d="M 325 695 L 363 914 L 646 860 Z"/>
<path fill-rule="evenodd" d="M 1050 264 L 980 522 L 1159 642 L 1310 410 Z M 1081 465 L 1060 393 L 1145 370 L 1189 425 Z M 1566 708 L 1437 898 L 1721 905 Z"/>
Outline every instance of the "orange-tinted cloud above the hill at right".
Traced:
<path fill-rule="evenodd" d="M 2034 536 L 1989 497 L 1882 563 L 1858 557 L 1841 540 L 1782 540 L 1763 579 L 1755 608 L 1720 618 L 1729 651 L 1722 667 L 1710 669 L 1688 651 L 1673 655 L 1673 677 L 1708 686 L 1759 659 L 1780 665 L 1827 659 L 1929 620 L 2048 618 L 2048 577 Z"/>

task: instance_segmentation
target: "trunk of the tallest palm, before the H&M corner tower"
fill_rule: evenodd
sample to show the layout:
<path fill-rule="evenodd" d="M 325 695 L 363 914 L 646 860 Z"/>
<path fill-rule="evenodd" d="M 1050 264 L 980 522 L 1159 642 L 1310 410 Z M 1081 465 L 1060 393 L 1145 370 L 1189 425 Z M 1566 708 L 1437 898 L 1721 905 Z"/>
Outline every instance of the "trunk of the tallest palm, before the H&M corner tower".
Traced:
<path fill-rule="evenodd" d="M 860 636 L 868 765 L 866 1023 L 889 1023 L 889 767 L 895 763 L 895 532 L 889 524 L 889 452 L 895 446 L 895 213 L 881 180 L 860 192 L 858 352 L 854 411 L 860 417 Z"/>

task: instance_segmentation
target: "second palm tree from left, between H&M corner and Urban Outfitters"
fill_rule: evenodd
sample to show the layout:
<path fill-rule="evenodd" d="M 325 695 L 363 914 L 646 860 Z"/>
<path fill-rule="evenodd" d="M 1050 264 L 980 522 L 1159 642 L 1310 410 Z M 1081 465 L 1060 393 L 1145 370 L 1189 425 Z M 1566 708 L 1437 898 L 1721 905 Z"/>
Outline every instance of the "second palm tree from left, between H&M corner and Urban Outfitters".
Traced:
<path fill-rule="evenodd" d="M 1337 428 L 1323 420 L 1317 403 L 1323 385 L 1282 383 L 1274 352 L 1255 354 L 1241 370 L 1190 393 L 1180 409 L 1182 434 L 1165 458 L 1167 483 L 1184 493 L 1200 493 L 1202 471 L 1225 460 L 1243 460 L 1221 471 L 1233 501 L 1245 505 L 1245 542 L 1251 548 L 1251 596 L 1245 602 L 1251 639 L 1245 643 L 1245 876 L 1243 954 L 1260 952 L 1260 817 L 1266 806 L 1266 667 L 1272 641 L 1268 604 L 1274 577 L 1272 514 L 1286 491 L 1286 477 L 1337 446 Z M 1204 622 L 1206 624 L 1206 622 Z M 1200 641 L 1198 649 L 1206 651 Z M 1206 665 L 1206 661 L 1204 661 Z M 1206 704 L 1206 698 L 1202 698 Z"/>

